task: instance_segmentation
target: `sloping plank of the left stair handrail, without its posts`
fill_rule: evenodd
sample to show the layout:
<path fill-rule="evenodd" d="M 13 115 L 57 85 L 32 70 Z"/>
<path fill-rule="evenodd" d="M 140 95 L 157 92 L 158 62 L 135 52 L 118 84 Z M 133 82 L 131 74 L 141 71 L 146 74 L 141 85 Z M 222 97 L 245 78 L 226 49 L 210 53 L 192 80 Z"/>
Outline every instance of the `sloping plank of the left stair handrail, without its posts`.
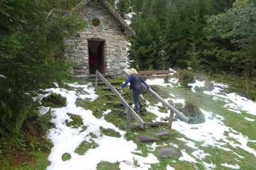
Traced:
<path fill-rule="evenodd" d="M 115 94 L 115 96 L 117 97 L 117 99 L 119 101 L 121 101 L 121 103 L 123 104 L 123 107 L 130 108 L 130 105 L 126 103 L 126 101 L 123 99 L 123 97 L 118 93 L 118 91 L 108 82 L 108 80 L 106 80 L 104 78 L 104 76 L 102 76 L 98 70 L 96 71 L 98 73 L 98 77 L 102 80 L 102 82 L 104 82 L 106 84 L 106 86 L 108 86 Z M 141 117 L 138 116 L 138 114 L 136 114 L 133 109 L 131 109 L 130 111 L 131 115 L 134 117 L 134 119 L 138 122 L 138 124 L 145 129 L 146 125 L 144 123 L 144 121 L 141 119 Z"/>

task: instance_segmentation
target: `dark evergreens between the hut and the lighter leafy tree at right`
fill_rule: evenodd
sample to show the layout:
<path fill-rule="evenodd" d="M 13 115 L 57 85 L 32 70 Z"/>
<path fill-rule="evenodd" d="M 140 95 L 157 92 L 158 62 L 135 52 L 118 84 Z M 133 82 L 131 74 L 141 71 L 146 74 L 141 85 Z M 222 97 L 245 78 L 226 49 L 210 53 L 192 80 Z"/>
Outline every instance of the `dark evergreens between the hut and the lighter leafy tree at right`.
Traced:
<path fill-rule="evenodd" d="M 191 66 L 195 70 L 219 70 L 214 54 L 209 53 L 208 49 L 213 50 L 216 45 L 221 44 L 219 41 L 206 39 L 208 35 L 204 28 L 207 20 L 204 16 L 223 12 L 233 2 L 234 0 L 131 1 L 131 27 L 136 32 L 130 39 L 131 67 L 162 70 Z"/>

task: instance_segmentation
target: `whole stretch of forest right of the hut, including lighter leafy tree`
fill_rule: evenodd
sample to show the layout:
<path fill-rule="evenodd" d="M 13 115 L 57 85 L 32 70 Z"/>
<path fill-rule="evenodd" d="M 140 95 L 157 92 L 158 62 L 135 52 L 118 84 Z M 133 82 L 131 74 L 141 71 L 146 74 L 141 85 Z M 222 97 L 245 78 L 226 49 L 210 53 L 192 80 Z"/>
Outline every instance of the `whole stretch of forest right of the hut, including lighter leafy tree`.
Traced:
<path fill-rule="evenodd" d="M 184 79 L 191 75 L 182 69 L 191 67 L 256 100 L 255 0 L 109 2 L 136 32 L 129 40 L 131 67 L 181 69 Z"/>

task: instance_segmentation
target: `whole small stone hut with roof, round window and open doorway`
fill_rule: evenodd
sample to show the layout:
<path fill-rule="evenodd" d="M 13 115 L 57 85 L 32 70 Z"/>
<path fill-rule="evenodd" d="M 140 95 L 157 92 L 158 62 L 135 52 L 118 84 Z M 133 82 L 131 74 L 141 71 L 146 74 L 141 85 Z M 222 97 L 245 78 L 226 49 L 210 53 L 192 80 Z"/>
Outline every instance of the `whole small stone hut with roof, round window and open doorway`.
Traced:
<path fill-rule="evenodd" d="M 83 0 L 73 10 L 88 25 L 72 40 L 65 41 L 75 48 L 68 53 L 71 61 L 77 63 L 71 72 L 76 78 L 87 78 L 96 70 L 103 75 L 122 75 L 122 69 L 127 67 L 127 38 L 135 35 L 134 30 L 105 0 Z M 90 62 L 89 50 L 94 64 Z"/>

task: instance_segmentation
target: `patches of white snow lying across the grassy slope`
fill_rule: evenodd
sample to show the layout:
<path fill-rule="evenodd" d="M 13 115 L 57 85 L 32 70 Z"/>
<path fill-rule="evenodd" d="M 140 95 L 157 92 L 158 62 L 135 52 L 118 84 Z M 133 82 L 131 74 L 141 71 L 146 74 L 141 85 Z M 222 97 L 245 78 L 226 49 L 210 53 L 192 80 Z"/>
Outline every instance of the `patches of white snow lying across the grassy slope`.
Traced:
<path fill-rule="evenodd" d="M 176 87 L 179 86 L 177 79 L 171 79 L 170 83 L 164 83 L 163 79 L 148 79 L 147 84 L 153 85 L 158 84 L 159 86 L 166 87 Z M 175 84 L 175 85 L 174 85 Z M 192 91 L 195 92 L 195 87 L 203 87 L 205 82 L 196 81 L 196 83 L 189 84 Z M 48 170 L 54 169 L 96 169 L 97 164 L 100 162 L 109 162 L 116 163 L 120 162 L 119 169 L 150 169 L 151 164 L 158 164 L 160 160 L 156 158 L 152 151 L 156 150 L 156 147 L 159 146 L 173 146 L 179 148 L 176 144 L 166 144 L 156 145 L 147 145 L 148 154 L 146 156 L 139 156 L 136 153 L 140 153 L 137 145 L 133 141 L 127 141 L 124 137 L 126 131 L 119 130 L 111 122 L 105 120 L 105 115 L 110 114 L 112 111 L 108 109 L 105 112 L 102 112 L 103 116 L 101 118 L 96 118 L 93 116 L 93 113 L 90 109 L 86 110 L 84 108 L 76 106 L 76 100 L 88 99 L 94 101 L 97 99 L 94 88 L 91 87 L 92 84 L 77 85 L 76 83 L 68 84 L 71 87 L 74 87 L 75 90 L 68 91 L 63 88 L 48 88 L 46 95 L 39 95 L 38 100 L 41 101 L 43 97 L 46 97 L 50 93 L 54 92 L 60 94 L 61 96 L 67 97 L 67 106 L 62 108 L 52 108 L 52 122 L 56 125 L 56 128 L 50 129 L 48 133 L 48 138 L 53 142 L 53 147 L 51 153 L 48 156 L 49 162 L 51 164 L 47 167 Z M 213 100 L 223 100 L 227 104 L 224 106 L 227 109 L 237 112 L 242 110 L 251 115 L 256 115 L 256 104 L 253 101 L 247 100 L 244 97 L 238 96 L 236 94 L 223 94 L 221 93 L 222 89 L 225 88 L 225 84 L 214 83 L 213 91 L 205 91 L 204 94 L 212 95 Z M 79 92 L 76 92 L 76 89 L 82 89 Z M 170 94 L 173 103 L 185 103 L 183 99 L 177 99 L 175 95 Z M 35 99 L 34 99 L 35 100 Z M 169 116 L 170 112 L 162 113 L 159 111 L 160 103 L 155 105 L 150 105 L 148 101 L 147 111 L 155 114 L 157 117 L 154 121 L 161 121 L 162 118 Z M 104 105 L 102 103 L 102 105 Z M 40 114 L 45 114 L 49 111 L 49 108 L 40 107 Z M 256 157 L 256 151 L 253 148 L 247 146 L 248 142 L 256 143 L 248 139 L 242 133 L 233 130 L 232 128 L 225 126 L 222 122 L 225 118 L 218 115 L 217 113 L 211 113 L 201 109 L 201 112 L 205 115 L 205 122 L 203 124 L 187 124 L 179 119 L 172 123 L 172 128 L 179 131 L 179 133 L 186 136 L 185 138 L 177 138 L 180 141 L 183 141 L 185 145 L 192 150 L 192 154 L 189 154 L 188 151 L 182 150 L 182 156 L 179 158 L 181 161 L 191 162 L 191 163 L 200 163 L 203 164 L 205 169 L 215 169 L 216 164 L 212 162 L 205 162 L 204 159 L 207 156 L 211 156 L 207 150 L 199 149 L 203 147 L 216 147 L 224 151 L 229 151 L 230 155 L 234 159 L 240 158 L 243 159 L 242 155 L 236 153 L 237 148 L 241 148 L 246 152 L 253 154 Z M 72 121 L 68 114 L 76 114 L 82 118 L 86 130 L 82 131 L 82 128 L 72 128 L 66 125 L 66 122 Z M 247 121 L 255 121 L 252 118 L 245 118 Z M 117 131 L 121 137 L 109 137 L 101 133 L 100 127 L 105 129 L 113 129 Z M 92 136 L 95 135 L 97 138 Z M 232 140 L 229 140 L 232 138 Z M 96 148 L 90 148 L 84 153 L 84 155 L 76 154 L 75 150 L 81 142 L 86 141 L 89 143 L 95 142 L 97 144 Z M 200 145 L 198 144 L 200 143 Z M 231 147 L 230 147 L 231 146 Z M 63 161 L 62 156 L 64 154 L 71 155 L 71 159 Z M 111 156 L 110 156 L 111 155 Z M 223 160 L 221 163 L 222 166 L 239 169 L 240 166 L 237 162 L 236 165 L 229 165 Z M 167 165 L 166 169 L 173 170 L 174 168 L 171 165 Z M 195 167 L 196 169 L 196 167 Z"/>

